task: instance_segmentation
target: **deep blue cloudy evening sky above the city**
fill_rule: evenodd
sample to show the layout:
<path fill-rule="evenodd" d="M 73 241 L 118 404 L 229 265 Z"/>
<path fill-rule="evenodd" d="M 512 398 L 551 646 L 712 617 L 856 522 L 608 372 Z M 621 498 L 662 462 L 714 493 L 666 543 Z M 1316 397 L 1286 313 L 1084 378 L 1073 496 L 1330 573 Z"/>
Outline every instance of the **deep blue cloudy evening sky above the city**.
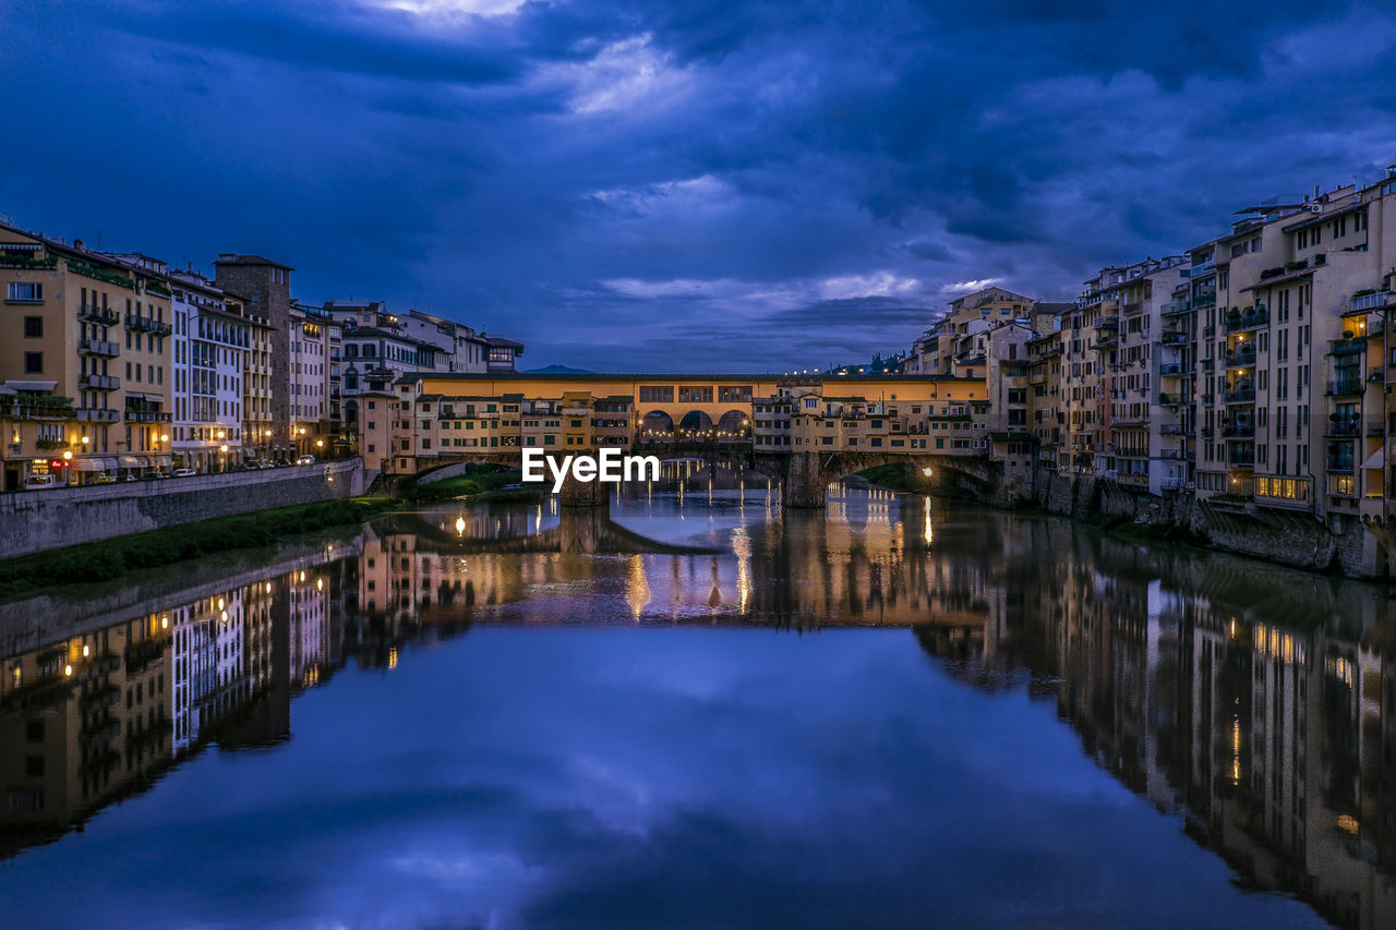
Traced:
<path fill-rule="evenodd" d="M 1396 13 L 1150 6 L 0 0 L 0 214 L 524 367 L 853 362 L 1396 161 Z"/>

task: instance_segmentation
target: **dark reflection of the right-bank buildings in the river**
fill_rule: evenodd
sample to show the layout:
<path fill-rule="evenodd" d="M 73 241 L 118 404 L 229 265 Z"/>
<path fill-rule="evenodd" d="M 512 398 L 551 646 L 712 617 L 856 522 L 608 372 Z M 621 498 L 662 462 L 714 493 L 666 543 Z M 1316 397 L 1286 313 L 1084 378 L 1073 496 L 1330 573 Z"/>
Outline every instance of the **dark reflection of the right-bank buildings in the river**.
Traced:
<path fill-rule="evenodd" d="M 1101 768 L 1181 814 L 1248 883 L 1339 926 L 1396 926 L 1386 603 L 1364 585 L 1143 552 L 1057 521 L 1025 532 L 1057 557 L 1009 561 L 988 658 L 935 628 L 917 630 L 923 648 L 952 669 L 1011 660 Z"/>

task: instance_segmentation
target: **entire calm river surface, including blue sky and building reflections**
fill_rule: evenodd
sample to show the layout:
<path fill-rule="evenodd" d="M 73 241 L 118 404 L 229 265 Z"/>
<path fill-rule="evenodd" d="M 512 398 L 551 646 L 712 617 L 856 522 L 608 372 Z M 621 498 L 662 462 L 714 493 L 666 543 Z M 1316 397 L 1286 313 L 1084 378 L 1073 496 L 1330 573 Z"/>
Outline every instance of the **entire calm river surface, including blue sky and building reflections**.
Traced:
<path fill-rule="evenodd" d="M 0 605 L 0 926 L 1396 926 L 1375 588 L 694 465 Z"/>

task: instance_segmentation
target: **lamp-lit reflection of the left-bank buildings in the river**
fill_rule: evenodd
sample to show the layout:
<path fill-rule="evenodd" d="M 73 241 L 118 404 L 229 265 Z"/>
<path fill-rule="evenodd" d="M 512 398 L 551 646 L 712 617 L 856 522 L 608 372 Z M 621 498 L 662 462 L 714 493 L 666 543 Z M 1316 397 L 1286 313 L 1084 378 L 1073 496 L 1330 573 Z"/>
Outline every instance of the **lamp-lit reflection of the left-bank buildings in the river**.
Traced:
<path fill-rule="evenodd" d="M 313 588 L 297 600 L 293 588 L 276 578 L 200 589 L 0 659 L 0 857 L 144 790 L 211 740 L 285 739 L 293 600 L 297 673 L 318 680 L 315 663 L 334 659 L 320 641 L 324 599 Z"/>

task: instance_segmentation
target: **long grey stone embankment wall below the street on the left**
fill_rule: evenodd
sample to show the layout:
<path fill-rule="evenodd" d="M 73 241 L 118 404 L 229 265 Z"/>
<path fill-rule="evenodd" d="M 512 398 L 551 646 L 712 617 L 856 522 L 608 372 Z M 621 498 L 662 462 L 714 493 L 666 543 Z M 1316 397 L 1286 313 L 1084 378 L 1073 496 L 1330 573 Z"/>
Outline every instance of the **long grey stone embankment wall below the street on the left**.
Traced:
<path fill-rule="evenodd" d="M 363 461 L 0 494 L 0 559 L 363 493 Z"/>

